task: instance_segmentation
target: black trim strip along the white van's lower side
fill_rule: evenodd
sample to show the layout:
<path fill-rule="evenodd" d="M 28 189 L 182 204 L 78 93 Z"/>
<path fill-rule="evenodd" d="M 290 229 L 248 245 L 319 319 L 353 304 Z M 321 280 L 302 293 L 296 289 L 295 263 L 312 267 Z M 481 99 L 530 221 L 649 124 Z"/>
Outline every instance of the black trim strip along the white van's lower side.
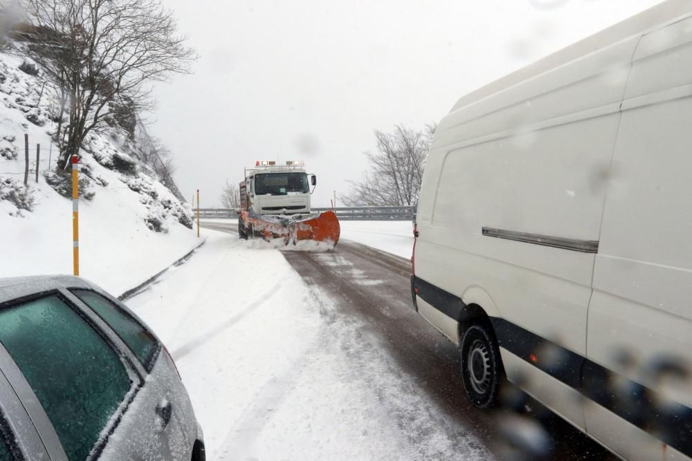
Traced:
<path fill-rule="evenodd" d="M 457 321 L 473 316 L 473 305 L 417 276 L 421 299 Z M 653 437 L 692 457 L 692 408 L 615 373 L 507 319 L 490 317 L 500 347 L 588 397 Z M 664 368 L 675 368 L 667 364 Z M 661 368 L 661 367 L 659 367 Z M 666 371 L 662 369 L 661 371 Z M 675 370 L 673 370 L 675 373 Z M 677 370 L 684 374 L 685 370 Z"/>

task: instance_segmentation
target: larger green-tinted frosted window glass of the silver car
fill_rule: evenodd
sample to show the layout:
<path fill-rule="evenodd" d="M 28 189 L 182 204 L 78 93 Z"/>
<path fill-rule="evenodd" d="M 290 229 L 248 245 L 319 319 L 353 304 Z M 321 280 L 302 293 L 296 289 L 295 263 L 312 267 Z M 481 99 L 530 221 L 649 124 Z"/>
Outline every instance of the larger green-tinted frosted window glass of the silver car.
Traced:
<path fill-rule="evenodd" d="M 131 387 L 120 357 L 57 295 L 0 308 L 0 343 L 33 388 L 68 458 L 86 458 Z"/>

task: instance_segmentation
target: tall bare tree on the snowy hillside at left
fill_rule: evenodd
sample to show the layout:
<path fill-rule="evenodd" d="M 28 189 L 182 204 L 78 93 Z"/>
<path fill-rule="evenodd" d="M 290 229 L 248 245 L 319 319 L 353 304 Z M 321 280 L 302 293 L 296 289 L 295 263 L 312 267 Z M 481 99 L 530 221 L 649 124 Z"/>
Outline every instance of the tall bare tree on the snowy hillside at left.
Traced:
<path fill-rule="evenodd" d="M 120 126 L 118 112 L 149 108 L 149 85 L 188 73 L 194 59 L 160 0 L 22 1 L 30 24 L 19 50 L 57 84 L 59 169 L 91 131 Z"/>

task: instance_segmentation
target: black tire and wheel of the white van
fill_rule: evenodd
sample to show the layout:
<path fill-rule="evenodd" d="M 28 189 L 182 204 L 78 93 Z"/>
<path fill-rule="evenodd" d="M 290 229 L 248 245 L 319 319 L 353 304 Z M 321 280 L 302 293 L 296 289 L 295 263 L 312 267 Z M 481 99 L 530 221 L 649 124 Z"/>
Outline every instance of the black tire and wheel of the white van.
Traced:
<path fill-rule="evenodd" d="M 464 332 L 460 350 L 466 397 L 477 408 L 492 408 L 498 402 L 503 375 L 500 349 L 492 332 L 474 323 Z"/>

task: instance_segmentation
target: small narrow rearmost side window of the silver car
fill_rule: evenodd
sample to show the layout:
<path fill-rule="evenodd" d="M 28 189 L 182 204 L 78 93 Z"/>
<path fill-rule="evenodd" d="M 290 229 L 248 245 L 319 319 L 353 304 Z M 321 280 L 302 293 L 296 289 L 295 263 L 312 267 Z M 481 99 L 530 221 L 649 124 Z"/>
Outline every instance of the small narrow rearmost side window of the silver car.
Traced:
<path fill-rule="evenodd" d="M 153 359 L 160 348 L 154 335 L 125 310 L 120 309 L 100 294 L 88 290 L 72 290 L 72 293 L 93 309 L 104 322 L 108 323 L 147 371 L 151 371 Z"/>

